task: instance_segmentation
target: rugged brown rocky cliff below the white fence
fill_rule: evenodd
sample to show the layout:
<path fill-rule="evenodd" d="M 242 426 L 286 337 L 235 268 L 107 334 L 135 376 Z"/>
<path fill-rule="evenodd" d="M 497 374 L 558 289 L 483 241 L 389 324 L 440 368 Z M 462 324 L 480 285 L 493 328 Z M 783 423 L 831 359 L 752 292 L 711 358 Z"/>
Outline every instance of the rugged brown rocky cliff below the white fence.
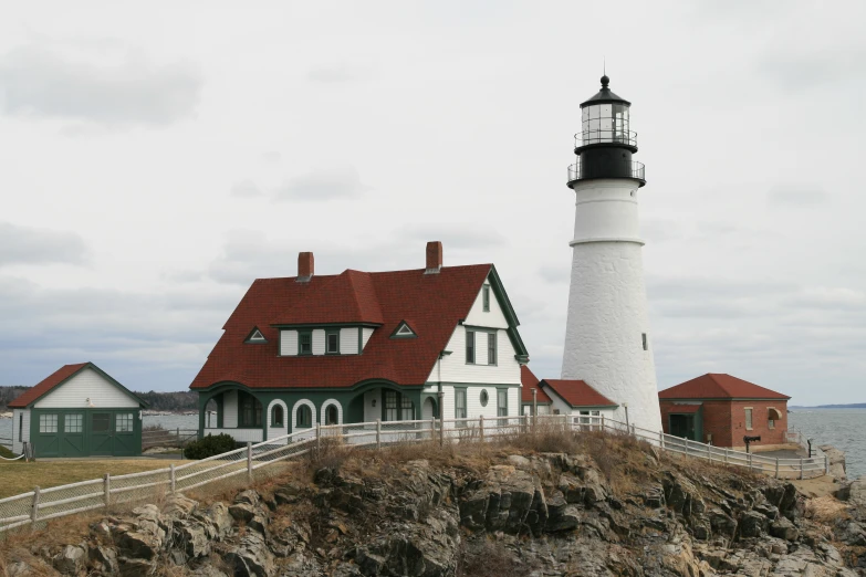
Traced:
<path fill-rule="evenodd" d="M 541 448 L 550 444 L 563 443 Z M 173 496 L 83 525 L 65 543 L 51 528 L 13 535 L 0 567 L 9 576 L 866 575 L 866 483 L 851 485 L 847 503 L 806 500 L 791 483 L 630 440 L 564 444 L 332 452 L 226 502 Z"/>

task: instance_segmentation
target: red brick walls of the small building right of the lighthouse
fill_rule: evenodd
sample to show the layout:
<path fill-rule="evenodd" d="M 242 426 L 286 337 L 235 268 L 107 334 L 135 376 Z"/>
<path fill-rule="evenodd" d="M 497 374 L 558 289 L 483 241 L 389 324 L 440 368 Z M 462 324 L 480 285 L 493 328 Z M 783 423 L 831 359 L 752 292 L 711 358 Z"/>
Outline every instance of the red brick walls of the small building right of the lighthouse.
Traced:
<path fill-rule="evenodd" d="M 681 401 L 680 401 L 681 402 Z M 712 436 L 712 444 L 717 447 L 742 447 L 743 436 L 761 437 L 762 444 L 781 444 L 785 442 L 787 430 L 787 402 L 784 400 L 705 400 L 702 408 L 703 439 L 707 442 L 708 434 Z M 666 433 L 668 430 L 668 416 L 681 407 L 674 408 L 674 401 L 660 400 L 661 426 Z M 752 407 L 752 430 L 745 429 L 745 407 Z M 775 429 L 768 427 L 768 408 L 774 407 L 782 416 L 775 422 Z"/>

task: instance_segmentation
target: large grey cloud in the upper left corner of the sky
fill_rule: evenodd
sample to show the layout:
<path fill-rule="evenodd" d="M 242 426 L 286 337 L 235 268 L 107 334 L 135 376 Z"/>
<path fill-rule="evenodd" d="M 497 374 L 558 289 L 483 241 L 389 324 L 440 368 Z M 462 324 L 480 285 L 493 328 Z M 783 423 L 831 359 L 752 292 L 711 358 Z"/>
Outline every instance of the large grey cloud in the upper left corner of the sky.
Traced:
<path fill-rule="evenodd" d="M 30 44 L 0 57 L 0 106 L 12 115 L 105 126 L 165 126 L 191 115 L 202 80 L 108 44 Z"/>

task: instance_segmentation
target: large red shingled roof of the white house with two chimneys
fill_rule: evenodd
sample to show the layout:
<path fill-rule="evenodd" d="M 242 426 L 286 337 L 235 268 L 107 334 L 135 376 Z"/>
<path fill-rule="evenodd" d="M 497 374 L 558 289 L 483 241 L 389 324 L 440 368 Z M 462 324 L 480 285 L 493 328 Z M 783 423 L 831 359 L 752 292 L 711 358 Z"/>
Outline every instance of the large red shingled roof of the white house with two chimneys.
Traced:
<path fill-rule="evenodd" d="M 225 381 L 250 388 L 351 387 L 366 379 L 422 385 L 457 324 L 469 314 L 490 264 L 380 273 L 259 279 L 252 283 L 225 333 L 190 385 L 202 389 Z M 405 318 L 417 338 L 392 339 Z M 272 325 L 369 323 L 382 325 L 362 355 L 279 356 Z M 265 345 L 244 344 L 253 326 Z"/>

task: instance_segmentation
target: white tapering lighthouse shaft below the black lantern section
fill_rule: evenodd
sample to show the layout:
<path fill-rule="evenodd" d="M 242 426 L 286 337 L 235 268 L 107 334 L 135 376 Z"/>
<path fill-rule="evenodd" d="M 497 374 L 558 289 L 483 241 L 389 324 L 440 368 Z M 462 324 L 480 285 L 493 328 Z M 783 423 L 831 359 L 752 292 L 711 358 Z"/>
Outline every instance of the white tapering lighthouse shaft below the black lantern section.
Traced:
<path fill-rule="evenodd" d="M 637 180 L 574 183 L 568 319 L 562 378 L 582 379 L 619 405 L 615 418 L 661 430 L 639 238 Z"/>

